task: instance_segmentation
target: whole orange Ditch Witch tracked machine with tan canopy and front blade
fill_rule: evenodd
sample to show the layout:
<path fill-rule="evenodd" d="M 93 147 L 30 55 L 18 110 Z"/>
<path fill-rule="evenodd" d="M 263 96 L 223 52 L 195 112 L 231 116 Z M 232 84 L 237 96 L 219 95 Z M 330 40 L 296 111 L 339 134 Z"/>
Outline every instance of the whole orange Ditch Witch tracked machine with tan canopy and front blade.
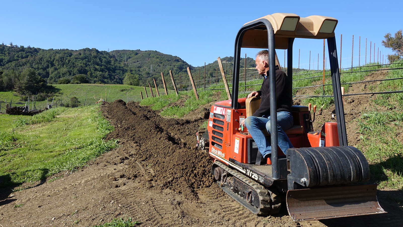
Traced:
<path fill-rule="evenodd" d="M 220 187 L 254 214 L 276 214 L 281 206 L 287 206 L 294 221 L 384 213 L 376 198 L 377 185 L 362 184 L 370 179 L 366 158 L 347 145 L 334 36 L 337 22 L 332 17 L 275 13 L 246 23 L 237 34 L 232 99 L 211 107 L 207 131 L 197 132 L 197 145 L 208 147 Z M 294 148 L 285 156 L 277 146 L 276 100 L 271 99 L 272 158 L 266 161 L 240 125 L 260 105 L 257 97 L 238 98 L 241 48 L 268 49 L 270 97 L 276 97 L 275 49 L 287 50 L 288 65 L 293 65 L 295 38 L 327 40 L 337 123 L 326 122 L 314 131 L 310 107 L 294 105 L 294 126 L 285 131 Z M 292 67 L 287 75 L 292 80 Z"/>

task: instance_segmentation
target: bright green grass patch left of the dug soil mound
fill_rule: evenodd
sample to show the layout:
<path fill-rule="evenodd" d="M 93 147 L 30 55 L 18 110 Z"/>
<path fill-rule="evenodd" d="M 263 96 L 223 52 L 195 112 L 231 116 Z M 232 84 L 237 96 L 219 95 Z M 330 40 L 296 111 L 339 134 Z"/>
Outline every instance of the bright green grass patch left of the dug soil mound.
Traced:
<path fill-rule="evenodd" d="M 24 119 L 12 131 L 0 131 L 0 175 L 7 176 L 3 186 L 74 170 L 116 147 L 116 140 L 103 139 L 113 127 L 98 105 L 58 107 Z"/>

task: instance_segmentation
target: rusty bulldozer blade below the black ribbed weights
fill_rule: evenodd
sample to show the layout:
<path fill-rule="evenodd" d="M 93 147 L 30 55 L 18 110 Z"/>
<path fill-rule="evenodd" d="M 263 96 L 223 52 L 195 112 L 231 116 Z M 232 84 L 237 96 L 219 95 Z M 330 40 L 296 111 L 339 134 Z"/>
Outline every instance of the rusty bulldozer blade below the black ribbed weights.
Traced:
<path fill-rule="evenodd" d="M 376 184 L 287 191 L 293 221 L 386 213 L 376 198 Z"/>

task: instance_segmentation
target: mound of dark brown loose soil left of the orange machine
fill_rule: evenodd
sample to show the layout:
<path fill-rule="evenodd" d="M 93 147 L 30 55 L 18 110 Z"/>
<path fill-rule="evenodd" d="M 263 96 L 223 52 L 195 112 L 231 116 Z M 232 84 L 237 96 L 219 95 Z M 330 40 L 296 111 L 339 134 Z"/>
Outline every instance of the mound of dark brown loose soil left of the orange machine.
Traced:
<path fill-rule="evenodd" d="M 162 119 L 157 111 L 122 100 L 102 106 L 116 130 L 108 138 L 119 138 L 127 145 L 127 156 L 137 160 L 145 173 L 127 169 L 125 175 L 145 177 L 150 187 L 170 189 L 197 199 L 195 189 L 210 187 L 208 154 L 195 149 L 195 133 L 202 123 Z M 126 160 L 128 157 L 120 157 Z"/>

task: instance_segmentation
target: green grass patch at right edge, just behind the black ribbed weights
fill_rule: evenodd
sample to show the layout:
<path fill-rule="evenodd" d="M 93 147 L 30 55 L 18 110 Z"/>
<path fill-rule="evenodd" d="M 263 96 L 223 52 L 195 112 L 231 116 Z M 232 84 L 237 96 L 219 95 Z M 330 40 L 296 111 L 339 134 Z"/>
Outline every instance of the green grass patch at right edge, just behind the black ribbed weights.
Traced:
<path fill-rule="evenodd" d="M 370 163 L 371 179 L 380 187 L 403 188 L 403 144 L 396 139 L 403 126 L 401 111 L 368 111 L 357 120 L 361 147 Z M 364 150 L 364 149 L 362 149 Z"/>

